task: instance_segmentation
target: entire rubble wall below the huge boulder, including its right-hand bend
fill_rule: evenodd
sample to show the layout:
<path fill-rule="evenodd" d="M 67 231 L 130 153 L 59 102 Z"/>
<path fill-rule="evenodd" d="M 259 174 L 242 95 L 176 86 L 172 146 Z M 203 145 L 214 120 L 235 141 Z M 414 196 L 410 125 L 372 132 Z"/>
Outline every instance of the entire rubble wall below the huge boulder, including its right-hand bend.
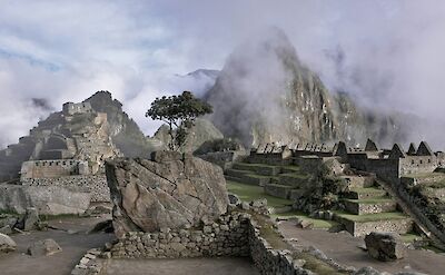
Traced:
<path fill-rule="evenodd" d="M 260 236 L 260 228 L 250 214 L 233 212 L 215 223 L 204 225 L 201 229 L 127 233 L 111 247 L 111 257 L 249 256 L 260 274 L 313 274 L 304 268 L 305 261 L 298 258 L 298 253 L 274 249 Z M 281 235 L 279 236 L 286 242 Z"/>

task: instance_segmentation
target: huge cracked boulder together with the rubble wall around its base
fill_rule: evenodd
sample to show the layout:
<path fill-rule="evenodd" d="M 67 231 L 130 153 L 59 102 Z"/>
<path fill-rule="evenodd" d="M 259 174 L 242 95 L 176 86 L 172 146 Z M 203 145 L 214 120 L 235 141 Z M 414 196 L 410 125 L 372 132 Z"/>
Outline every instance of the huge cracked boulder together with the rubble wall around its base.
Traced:
<path fill-rule="evenodd" d="M 250 257 L 260 274 L 313 274 L 300 259 L 310 253 L 274 229 L 266 202 L 229 200 L 220 167 L 157 151 L 151 159 L 107 161 L 106 169 L 118 237 L 107 257 Z M 342 268 L 316 252 L 310 257 L 327 271 Z"/>

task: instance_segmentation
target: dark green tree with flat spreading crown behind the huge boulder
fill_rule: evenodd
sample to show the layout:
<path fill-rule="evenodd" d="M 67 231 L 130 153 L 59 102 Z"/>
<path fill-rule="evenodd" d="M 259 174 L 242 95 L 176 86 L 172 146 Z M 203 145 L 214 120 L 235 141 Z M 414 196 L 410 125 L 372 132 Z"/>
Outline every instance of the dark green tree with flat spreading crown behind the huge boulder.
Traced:
<path fill-rule="evenodd" d="M 162 120 L 169 126 L 168 134 L 171 140 L 168 147 L 178 150 L 186 143 L 195 119 L 211 112 L 211 105 L 196 98 L 190 91 L 184 91 L 179 96 L 156 98 L 146 117 Z"/>

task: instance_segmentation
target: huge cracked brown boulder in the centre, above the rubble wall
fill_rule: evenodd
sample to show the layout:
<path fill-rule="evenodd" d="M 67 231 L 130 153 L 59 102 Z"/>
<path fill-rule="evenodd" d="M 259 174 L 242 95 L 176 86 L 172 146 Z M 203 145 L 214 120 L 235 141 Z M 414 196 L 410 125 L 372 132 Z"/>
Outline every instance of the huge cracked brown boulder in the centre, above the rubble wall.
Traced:
<path fill-rule="evenodd" d="M 116 235 L 190 228 L 226 213 L 222 169 L 172 151 L 149 159 L 115 159 L 106 164 Z"/>

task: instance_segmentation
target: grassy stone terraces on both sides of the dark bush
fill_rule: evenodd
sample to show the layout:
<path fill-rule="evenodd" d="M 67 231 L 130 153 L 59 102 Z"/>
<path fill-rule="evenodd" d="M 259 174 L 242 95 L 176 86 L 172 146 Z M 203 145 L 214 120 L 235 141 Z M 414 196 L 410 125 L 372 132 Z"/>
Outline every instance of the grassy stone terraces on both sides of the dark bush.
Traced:
<path fill-rule="evenodd" d="M 269 206 L 278 209 L 279 216 L 309 218 L 308 214 L 290 209 L 310 177 L 300 167 L 237 163 L 231 169 L 226 169 L 225 174 L 229 191 L 243 200 L 267 198 Z M 349 189 L 339 195 L 344 210 L 332 210 L 333 220 L 325 220 L 328 224 L 320 227 L 328 228 L 338 223 L 354 236 L 364 236 L 370 232 L 396 232 L 409 240 L 419 237 L 413 234 L 413 219 L 398 209 L 397 203 L 377 186 L 374 177 L 340 177 L 347 181 Z M 323 224 L 319 218 L 313 218 L 312 222 Z"/>

